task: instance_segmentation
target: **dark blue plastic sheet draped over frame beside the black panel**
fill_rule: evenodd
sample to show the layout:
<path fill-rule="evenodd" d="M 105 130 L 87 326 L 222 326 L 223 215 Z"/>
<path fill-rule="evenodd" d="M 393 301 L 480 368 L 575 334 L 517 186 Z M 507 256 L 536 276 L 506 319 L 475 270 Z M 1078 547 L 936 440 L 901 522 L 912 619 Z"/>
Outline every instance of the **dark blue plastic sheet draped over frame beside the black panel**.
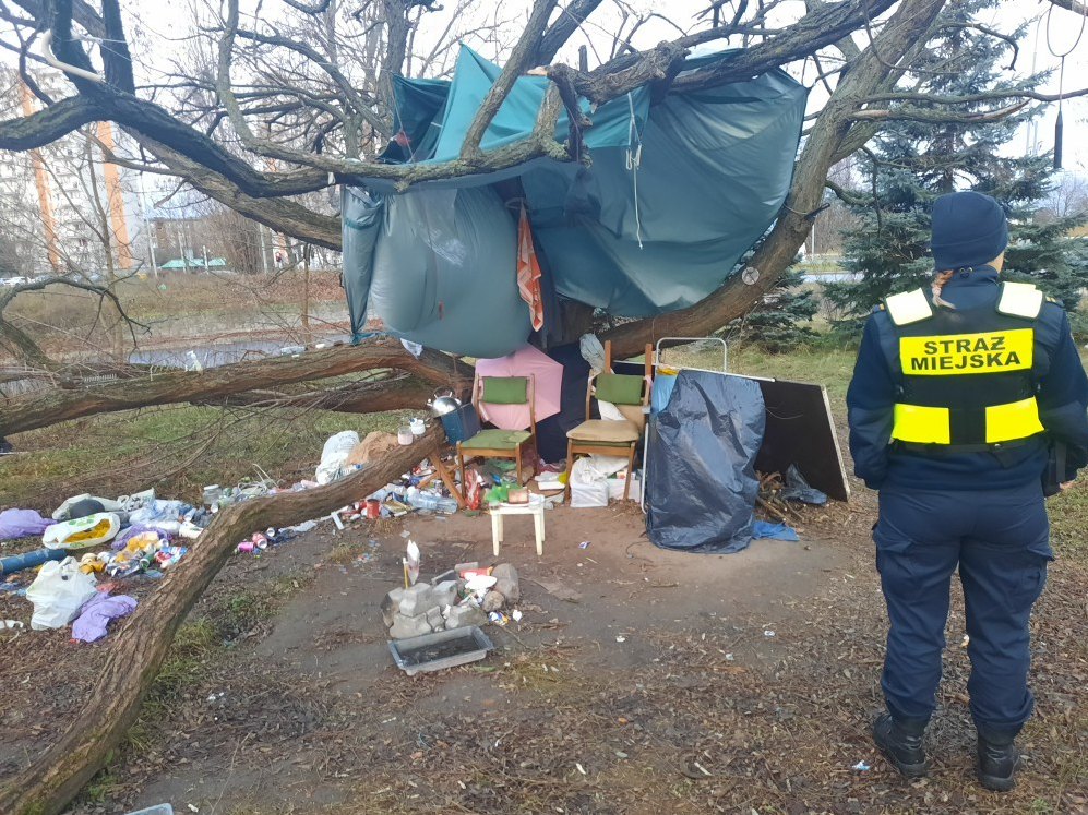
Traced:
<path fill-rule="evenodd" d="M 755 381 L 709 371 L 677 375 L 648 436 L 646 535 L 655 546 L 722 554 L 748 547 L 765 426 Z"/>

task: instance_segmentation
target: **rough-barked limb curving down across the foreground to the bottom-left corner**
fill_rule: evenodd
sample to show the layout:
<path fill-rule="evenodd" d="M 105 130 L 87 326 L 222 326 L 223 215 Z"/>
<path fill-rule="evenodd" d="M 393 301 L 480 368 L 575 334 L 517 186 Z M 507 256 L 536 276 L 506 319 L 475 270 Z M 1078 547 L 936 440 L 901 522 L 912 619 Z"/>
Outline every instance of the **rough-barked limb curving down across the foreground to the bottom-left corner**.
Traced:
<path fill-rule="evenodd" d="M 0 786 L 0 813 L 56 815 L 106 763 L 136 720 L 174 635 L 208 584 L 254 529 L 325 515 L 357 501 L 432 454 L 442 440 L 432 427 L 415 444 L 394 447 L 381 460 L 327 487 L 251 499 L 227 506 L 201 534 L 154 594 L 110 637 L 110 654 L 80 718 L 48 750 Z M 91 688 L 88 688 L 89 691 Z"/>

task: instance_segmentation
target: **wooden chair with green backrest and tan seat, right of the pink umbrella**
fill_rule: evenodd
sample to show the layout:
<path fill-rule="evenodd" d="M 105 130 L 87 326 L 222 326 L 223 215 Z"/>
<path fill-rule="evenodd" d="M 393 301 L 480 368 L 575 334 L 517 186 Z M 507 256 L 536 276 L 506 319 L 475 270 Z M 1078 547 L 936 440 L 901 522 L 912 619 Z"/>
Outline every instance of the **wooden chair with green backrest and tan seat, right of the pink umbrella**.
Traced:
<path fill-rule="evenodd" d="M 605 345 L 605 367 L 611 369 L 611 348 Z M 631 470 L 635 463 L 635 447 L 646 426 L 649 406 L 649 382 L 653 371 L 653 351 L 646 346 L 646 372 L 643 376 L 620 373 L 599 373 L 589 377 L 586 387 L 586 420 L 566 433 L 566 498 L 571 495 L 570 474 L 574 456 L 597 453 L 615 456 L 627 454 L 627 477 L 623 484 L 623 500 L 631 491 Z M 593 398 L 610 401 L 623 414 L 621 419 L 590 419 Z"/>

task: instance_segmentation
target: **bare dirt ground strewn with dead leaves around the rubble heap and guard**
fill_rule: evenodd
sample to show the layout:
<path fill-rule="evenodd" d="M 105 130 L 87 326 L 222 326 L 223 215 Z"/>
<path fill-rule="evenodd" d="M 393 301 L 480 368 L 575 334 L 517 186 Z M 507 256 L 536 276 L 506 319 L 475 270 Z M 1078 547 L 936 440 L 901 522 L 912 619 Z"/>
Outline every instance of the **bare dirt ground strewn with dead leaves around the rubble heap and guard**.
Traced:
<path fill-rule="evenodd" d="M 394 667 L 379 610 L 400 580 L 402 532 L 426 577 L 495 562 L 486 516 L 319 527 L 235 558 L 191 616 L 214 636 L 179 639 L 143 718 L 69 812 L 1088 812 L 1085 575 L 1072 565 L 1055 564 L 1036 615 L 1039 702 L 1018 789 L 972 778 L 959 603 L 930 777 L 909 784 L 878 758 L 873 512 L 864 493 L 803 508 L 800 542 L 729 555 L 656 549 L 637 508 L 613 505 L 549 512 L 537 558 L 529 519 L 507 518 L 498 561 L 518 571 L 523 620 L 487 626 L 486 660 L 414 678 Z M 0 616 L 20 602 L 0 594 Z M 108 643 L 0 644 L 0 775 L 84 694 L 108 693 L 93 681 Z"/>

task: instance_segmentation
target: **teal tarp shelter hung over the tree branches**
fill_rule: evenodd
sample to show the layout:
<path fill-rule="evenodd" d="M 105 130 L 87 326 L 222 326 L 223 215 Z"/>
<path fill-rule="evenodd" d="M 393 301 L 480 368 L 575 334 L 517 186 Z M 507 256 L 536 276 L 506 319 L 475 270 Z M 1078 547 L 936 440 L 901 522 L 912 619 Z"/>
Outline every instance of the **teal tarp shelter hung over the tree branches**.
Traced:
<path fill-rule="evenodd" d="M 705 60 L 689 60 L 685 70 Z M 455 159 L 499 72 L 463 47 L 450 82 L 395 77 L 400 130 L 383 158 Z M 547 84 L 517 79 L 483 135 L 485 152 L 529 134 Z M 352 334 L 372 314 L 397 336 L 457 353 L 499 357 L 524 345 L 529 310 L 515 274 L 523 201 L 542 283 L 555 295 L 634 317 L 702 300 L 781 206 L 805 97 L 777 69 L 709 89 L 671 89 L 657 104 L 644 86 L 593 111 L 581 100 L 593 121 L 584 131 L 591 167 L 535 159 L 400 194 L 382 179 L 346 188 Z M 566 136 L 563 113 L 555 139 Z M 545 299 L 547 332 L 555 310 Z"/>

